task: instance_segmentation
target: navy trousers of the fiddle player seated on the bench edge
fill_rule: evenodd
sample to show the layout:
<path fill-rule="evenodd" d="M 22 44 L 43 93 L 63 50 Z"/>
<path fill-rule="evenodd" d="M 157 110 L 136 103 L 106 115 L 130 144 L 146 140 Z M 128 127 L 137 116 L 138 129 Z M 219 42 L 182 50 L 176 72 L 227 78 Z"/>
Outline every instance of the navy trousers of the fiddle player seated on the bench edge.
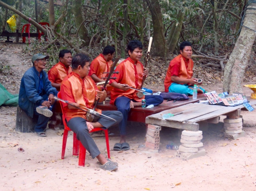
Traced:
<path fill-rule="evenodd" d="M 145 100 L 146 106 L 151 104 L 157 106 L 163 103 L 163 97 L 159 95 L 146 95 Z M 117 106 L 117 110 L 120 111 L 124 116 L 123 120 L 119 123 L 119 131 L 121 135 L 126 135 L 127 119 L 130 111 L 130 101 L 131 99 L 125 96 L 121 96 L 115 100 L 115 106 Z M 136 102 L 135 100 L 132 101 Z"/>

